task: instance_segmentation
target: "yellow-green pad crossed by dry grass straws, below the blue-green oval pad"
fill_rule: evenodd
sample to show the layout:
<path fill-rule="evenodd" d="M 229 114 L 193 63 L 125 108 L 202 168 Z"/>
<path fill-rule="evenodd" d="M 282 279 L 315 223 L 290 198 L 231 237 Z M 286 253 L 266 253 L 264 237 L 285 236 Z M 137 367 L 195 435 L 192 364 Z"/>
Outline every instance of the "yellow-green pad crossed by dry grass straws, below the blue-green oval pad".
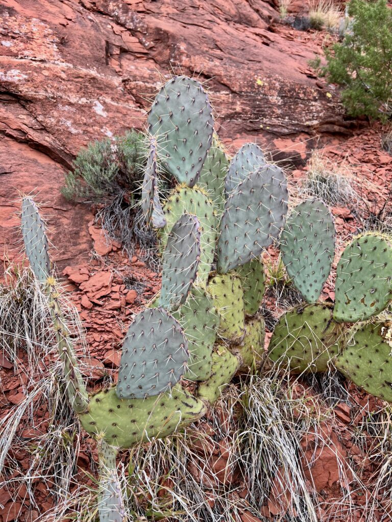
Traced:
<path fill-rule="evenodd" d="M 279 319 L 268 348 L 273 362 L 295 373 L 324 372 L 339 353 L 342 327 L 333 321 L 332 306 L 299 305 Z"/>

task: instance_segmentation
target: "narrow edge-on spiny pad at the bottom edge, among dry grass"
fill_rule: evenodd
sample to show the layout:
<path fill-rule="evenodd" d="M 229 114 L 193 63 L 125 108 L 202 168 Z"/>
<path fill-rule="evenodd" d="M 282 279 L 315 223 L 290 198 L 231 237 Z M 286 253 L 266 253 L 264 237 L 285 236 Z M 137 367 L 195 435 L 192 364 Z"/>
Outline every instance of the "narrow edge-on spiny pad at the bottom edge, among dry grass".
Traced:
<path fill-rule="evenodd" d="M 125 508 L 121 484 L 116 468 L 117 448 L 106 441 L 99 441 L 100 498 L 98 504 L 100 522 L 125 522 Z"/>

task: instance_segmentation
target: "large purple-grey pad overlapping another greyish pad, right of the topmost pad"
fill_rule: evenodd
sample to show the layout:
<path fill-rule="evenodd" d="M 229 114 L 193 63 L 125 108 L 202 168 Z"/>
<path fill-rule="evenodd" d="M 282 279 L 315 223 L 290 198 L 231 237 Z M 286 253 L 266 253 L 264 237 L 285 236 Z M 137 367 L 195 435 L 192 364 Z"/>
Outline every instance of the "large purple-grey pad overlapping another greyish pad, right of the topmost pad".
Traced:
<path fill-rule="evenodd" d="M 258 257 L 280 234 L 287 211 L 287 180 L 265 165 L 228 195 L 218 238 L 217 271 L 225 274 Z"/>

